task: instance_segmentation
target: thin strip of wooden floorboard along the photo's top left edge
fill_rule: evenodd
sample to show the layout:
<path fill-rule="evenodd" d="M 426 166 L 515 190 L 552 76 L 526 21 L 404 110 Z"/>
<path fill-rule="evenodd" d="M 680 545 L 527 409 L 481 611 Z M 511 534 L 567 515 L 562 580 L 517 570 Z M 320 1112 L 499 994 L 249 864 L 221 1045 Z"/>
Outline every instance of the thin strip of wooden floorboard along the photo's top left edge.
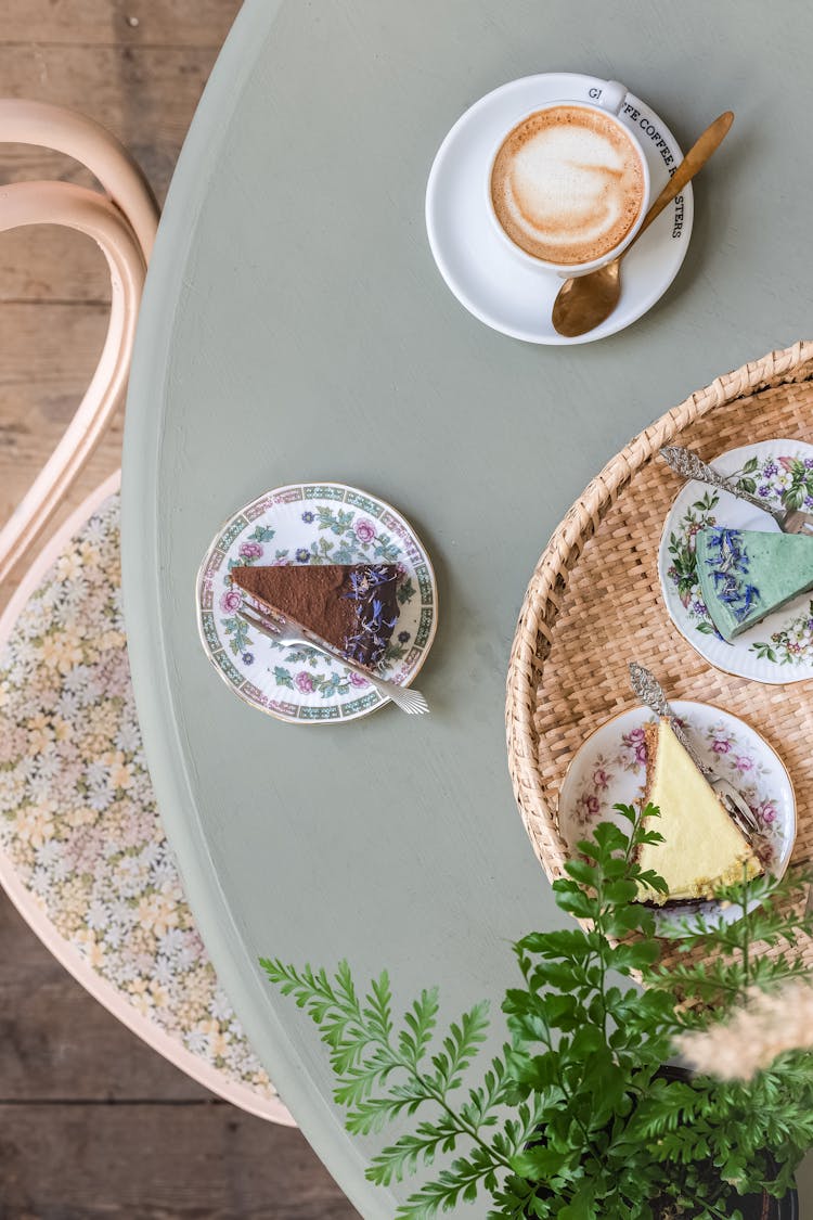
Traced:
<path fill-rule="evenodd" d="M 4 43 L 219 48 L 240 0 L 4 0 Z"/>

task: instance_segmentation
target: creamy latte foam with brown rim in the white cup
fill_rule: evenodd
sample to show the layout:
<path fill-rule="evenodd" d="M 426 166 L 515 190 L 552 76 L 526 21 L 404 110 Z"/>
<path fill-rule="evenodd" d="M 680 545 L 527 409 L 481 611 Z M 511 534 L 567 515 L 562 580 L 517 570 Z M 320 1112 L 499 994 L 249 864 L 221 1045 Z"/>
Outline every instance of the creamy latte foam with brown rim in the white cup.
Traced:
<path fill-rule="evenodd" d="M 612 115 L 552 106 L 506 137 L 491 171 L 500 224 L 527 254 L 570 266 L 619 245 L 644 206 L 637 149 Z"/>

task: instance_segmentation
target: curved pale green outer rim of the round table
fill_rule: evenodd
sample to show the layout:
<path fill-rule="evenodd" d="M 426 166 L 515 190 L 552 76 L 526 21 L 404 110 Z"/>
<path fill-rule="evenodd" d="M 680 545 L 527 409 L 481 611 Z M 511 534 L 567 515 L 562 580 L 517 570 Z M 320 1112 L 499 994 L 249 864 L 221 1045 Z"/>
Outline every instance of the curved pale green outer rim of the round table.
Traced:
<path fill-rule="evenodd" d="M 165 648 L 161 621 L 157 476 L 172 373 L 173 320 L 183 307 L 183 270 L 210 172 L 222 154 L 229 118 L 280 6 L 282 0 L 244 4 L 199 104 L 167 196 L 127 396 L 122 473 L 124 611 L 133 686 L 158 809 L 217 974 L 280 1096 L 328 1171 L 366 1218 L 390 1220 L 397 1205 L 394 1196 L 366 1180 L 364 1158 L 344 1132 L 339 1113 L 310 1085 L 218 883 L 191 793 L 191 761 L 185 756 L 173 711 L 172 658 Z"/>

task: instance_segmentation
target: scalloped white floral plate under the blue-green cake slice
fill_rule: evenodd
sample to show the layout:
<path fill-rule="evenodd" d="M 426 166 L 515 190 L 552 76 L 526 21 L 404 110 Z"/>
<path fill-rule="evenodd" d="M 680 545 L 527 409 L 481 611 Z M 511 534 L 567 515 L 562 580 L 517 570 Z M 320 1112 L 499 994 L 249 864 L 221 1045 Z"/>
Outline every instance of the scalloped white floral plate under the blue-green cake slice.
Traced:
<path fill-rule="evenodd" d="M 813 510 L 813 445 L 802 440 L 761 440 L 730 449 L 712 464 L 740 487 L 785 509 Z M 729 644 L 712 623 L 697 583 L 695 534 L 703 526 L 772 533 L 779 526 L 767 512 L 689 482 L 678 494 L 663 527 L 658 576 L 669 617 L 692 648 L 718 670 L 757 682 L 801 682 L 813 677 L 813 599 L 796 598 Z"/>

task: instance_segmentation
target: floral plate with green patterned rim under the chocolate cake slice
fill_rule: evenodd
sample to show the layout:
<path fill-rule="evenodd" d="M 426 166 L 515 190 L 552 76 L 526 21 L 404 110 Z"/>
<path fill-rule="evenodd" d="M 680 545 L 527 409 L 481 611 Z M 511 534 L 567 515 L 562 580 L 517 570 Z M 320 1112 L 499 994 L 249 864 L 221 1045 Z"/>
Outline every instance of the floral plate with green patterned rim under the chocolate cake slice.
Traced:
<path fill-rule="evenodd" d="M 389 703 L 369 682 L 314 648 L 275 644 L 235 614 L 228 573 L 241 564 L 399 564 L 399 621 L 380 666 L 408 686 L 438 623 L 431 562 L 412 527 L 383 500 L 344 483 L 293 483 L 266 492 L 223 526 L 197 573 L 204 648 L 232 689 L 296 723 L 356 720 Z"/>

